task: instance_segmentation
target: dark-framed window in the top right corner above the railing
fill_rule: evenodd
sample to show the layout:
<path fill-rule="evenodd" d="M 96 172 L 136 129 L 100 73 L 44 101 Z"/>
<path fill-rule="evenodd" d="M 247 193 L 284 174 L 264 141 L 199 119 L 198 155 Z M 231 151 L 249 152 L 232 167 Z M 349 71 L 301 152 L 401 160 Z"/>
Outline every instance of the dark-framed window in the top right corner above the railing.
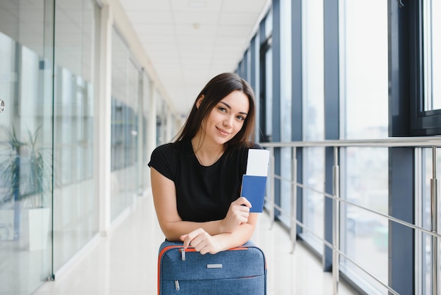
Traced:
<path fill-rule="evenodd" d="M 399 45 L 410 49 L 411 136 L 441 134 L 441 94 L 437 83 L 441 78 L 441 21 L 435 17 L 439 13 L 440 1 L 406 2 L 402 14 L 410 23 L 410 30 L 397 28 L 399 37 L 409 39 L 409 44 Z"/>

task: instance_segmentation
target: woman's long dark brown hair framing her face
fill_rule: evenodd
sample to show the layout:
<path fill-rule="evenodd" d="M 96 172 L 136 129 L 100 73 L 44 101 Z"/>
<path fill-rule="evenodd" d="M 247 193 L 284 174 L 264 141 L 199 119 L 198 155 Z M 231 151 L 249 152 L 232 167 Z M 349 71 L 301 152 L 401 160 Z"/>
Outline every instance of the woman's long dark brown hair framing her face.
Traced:
<path fill-rule="evenodd" d="M 239 90 L 247 95 L 249 100 L 249 110 L 247 118 L 244 121 L 244 125 L 240 131 L 231 138 L 225 145 L 228 146 L 250 146 L 254 144 L 254 126 L 256 121 L 256 105 L 254 103 L 254 91 L 251 86 L 244 79 L 237 76 L 235 73 L 221 73 L 218 76 L 212 78 L 202 89 L 194 101 L 192 110 L 185 121 L 176 141 L 182 139 L 192 139 L 196 136 L 199 128 L 204 124 L 204 120 L 209 116 L 211 110 L 216 107 L 216 104 L 220 102 L 224 97 L 231 92 Z M 197 107 L 197 101 L 199 97 L 204 95 L 204 99 L 201 100 L 199 108 Z"/>

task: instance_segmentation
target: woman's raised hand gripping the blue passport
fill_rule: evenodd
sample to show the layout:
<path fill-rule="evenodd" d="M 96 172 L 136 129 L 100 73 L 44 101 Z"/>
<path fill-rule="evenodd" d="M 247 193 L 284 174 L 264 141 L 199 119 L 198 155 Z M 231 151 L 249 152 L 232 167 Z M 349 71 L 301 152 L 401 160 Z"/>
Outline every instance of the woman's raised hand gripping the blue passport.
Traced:
<path fill-rule="evenodd" d="M 230 204 L 227 215 L 222 220 L 222 229 L 224 232 L 232 232 L 240 224 L 248 222 L 249 208 L 251 203 L 244 197 L 240 197 Z"/>

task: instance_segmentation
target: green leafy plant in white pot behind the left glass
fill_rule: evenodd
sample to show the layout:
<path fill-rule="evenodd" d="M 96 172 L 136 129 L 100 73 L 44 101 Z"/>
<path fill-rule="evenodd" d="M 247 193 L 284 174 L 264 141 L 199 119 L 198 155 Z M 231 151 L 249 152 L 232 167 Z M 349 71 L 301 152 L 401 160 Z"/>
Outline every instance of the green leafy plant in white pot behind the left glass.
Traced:
<path fill-rule="evenodd" d="M 44 240 L 33 242 L 42 236 L 47 239 L 46 227 L 49 230 L 49 207 L 46 207 L 45 192 L 50 183 L 50 161 L 45 160 L 42 148 L 37 145 L 40 128 L 35 133 L 28 132 L 28 140 L 21 141 L 15 128 L 6 129 L 7 141 L 3 143 L 0 187 L 0 205 L 13 201 L 13 239 L 20 239 L 21 209 L 29 208 L 30 250 L 45 246 Z M 40 225 L 42 224 L 42 225 Z M 44 229 L 34 229 L 39 226 Z M 40 233 L 44 234 L 40 234 Z M 40 239 L 41 240 L 41 239 Z"/>

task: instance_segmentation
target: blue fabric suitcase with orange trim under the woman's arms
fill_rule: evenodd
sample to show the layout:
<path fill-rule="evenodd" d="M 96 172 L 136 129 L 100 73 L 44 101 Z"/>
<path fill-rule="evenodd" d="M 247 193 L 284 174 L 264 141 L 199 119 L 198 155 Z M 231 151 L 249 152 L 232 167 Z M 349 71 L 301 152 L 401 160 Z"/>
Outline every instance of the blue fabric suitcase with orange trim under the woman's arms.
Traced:
<path fill-rule="evenodd" d="M 216 254 L 201 255 L 182 243 L 159 247 L 158 294 L 266 294 L 266 260 L 251 241 Z"/>

